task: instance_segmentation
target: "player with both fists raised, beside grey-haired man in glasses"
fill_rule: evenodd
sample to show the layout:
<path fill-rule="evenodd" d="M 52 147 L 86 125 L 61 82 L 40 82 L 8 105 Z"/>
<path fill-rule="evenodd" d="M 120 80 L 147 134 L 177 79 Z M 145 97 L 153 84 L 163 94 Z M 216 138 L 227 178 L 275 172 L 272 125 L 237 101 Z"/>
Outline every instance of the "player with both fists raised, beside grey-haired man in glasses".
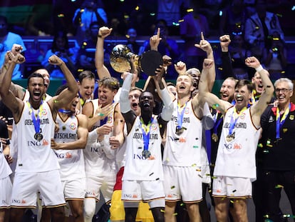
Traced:
<path fill-rule="evenodd" d="M 202 75 L 210 74 L 212 63 L 212 60 L 205 59 Z M 207 79 L 199 87 L 199 94 L 205 101 L 224 115 L 212 188 L 217 221 L 227 221 L 229 200 L 233 199 L 237 219 L 248 221 L 247 198 L 252 196 L 252 181 L 256 179 L 255 153 L 261 133 L 260 116 L 274 92 L 268 72 L 262 68 L 259 61 L 255 57 L 249 57 L 245 63 L 259 72 L 265 88 L 259 101 L 253 106 L 248 108 L 249 99 L 252 97 L 252 84 L 247 80 L 240 80 L 236 84 L 234 106 L 209 93 Z"/>

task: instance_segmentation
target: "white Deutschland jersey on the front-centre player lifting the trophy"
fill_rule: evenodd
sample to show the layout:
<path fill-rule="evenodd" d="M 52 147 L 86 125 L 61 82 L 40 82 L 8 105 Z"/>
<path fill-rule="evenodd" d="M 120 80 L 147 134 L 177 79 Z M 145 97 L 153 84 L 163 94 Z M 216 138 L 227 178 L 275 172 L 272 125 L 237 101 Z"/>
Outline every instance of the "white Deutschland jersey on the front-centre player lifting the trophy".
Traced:
<path fill-rule="evenodd" d="M 148 151 L 150 157 L 143 156 L 143 127 L 137 116 L 126 138 L 126 156 L 123 180 L 155 181 L 163 180 L 160 127 L 157 116 L 150 125 Z"/>

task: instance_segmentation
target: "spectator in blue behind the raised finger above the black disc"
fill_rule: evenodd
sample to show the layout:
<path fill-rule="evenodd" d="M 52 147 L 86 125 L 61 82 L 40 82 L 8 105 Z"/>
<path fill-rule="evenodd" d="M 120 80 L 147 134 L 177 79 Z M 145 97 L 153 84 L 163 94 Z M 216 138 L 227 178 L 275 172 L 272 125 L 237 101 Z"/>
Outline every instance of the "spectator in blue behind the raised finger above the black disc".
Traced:
<path fill-rule="evenodd" d="M 157 51 L 162 54 L 162 56 L 169 56 L 172 59 L 172 64 L 176 64 L 179 61 L 180 57 L 180 49 L 178 48 L 177 42 L 174 39 L 169 37 L 167 23 L 165 20 L 160 19 L 155 24 L 155 34 L 157 34 L 157 29 L 160 28 L 160 44 L 157 46 Z M 143 43 L 143 46 L 140 47 L 139 55 L 143 54 L 144 51 L 150 50 L 150 40 L 146 40 Z M 175 69 L 171 66 L 167 68 L 167 74 L 169 75 L 167 78 L 172 76 L 177 76 Z M 176 77 L 175 76 L 175 77 Z"/>

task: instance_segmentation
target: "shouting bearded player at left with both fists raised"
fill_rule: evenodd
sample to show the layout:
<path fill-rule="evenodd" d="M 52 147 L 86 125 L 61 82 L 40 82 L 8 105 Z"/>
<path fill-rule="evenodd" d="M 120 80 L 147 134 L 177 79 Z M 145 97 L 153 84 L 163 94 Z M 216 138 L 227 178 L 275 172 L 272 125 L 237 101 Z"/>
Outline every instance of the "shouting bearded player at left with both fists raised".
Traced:
<path fill-rule="evenodd" d="M 58 109 L 71 101 L 78 93 L 78 86 L 71 71 L 58 56 L 51 56 L 49 62 L 63 71 L 68 89 L 49 101 L 43 101 L 45 92 L 41 74 L 32 74 L 28 79 L 30 97 L 28 101 L 16 98 L 9 87 L 16 63 L 23 63 L 24 56 L 9 54 L 11 63 L 3 76 L 0 94 L 14 115 L 18 131 L 18 160 L 11 194 L 11 221 L 21 221 L 24 211 L 36 207 L 37 191 L 40 191 L 44 206 L 51 208 L 53 221 L 63 221 L 65 205 L 63 188 L 56 155 L 51 149 L 51 136 Z M 38 176 L 38 180 L 36 180 Z M 54 181 L 55 183 L 52 183 Z"/>

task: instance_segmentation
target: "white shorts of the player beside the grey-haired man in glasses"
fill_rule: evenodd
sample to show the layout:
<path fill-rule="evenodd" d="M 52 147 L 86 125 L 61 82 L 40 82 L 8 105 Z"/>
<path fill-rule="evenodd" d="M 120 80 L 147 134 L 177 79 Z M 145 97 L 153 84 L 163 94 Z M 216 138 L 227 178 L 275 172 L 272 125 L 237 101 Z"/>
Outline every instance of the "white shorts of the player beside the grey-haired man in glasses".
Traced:
<path fill-rule="evenodd" d="M 213 179 L 212 196 L 227 198 L 251 198 L 250 178 L 216 176 Z"/>

